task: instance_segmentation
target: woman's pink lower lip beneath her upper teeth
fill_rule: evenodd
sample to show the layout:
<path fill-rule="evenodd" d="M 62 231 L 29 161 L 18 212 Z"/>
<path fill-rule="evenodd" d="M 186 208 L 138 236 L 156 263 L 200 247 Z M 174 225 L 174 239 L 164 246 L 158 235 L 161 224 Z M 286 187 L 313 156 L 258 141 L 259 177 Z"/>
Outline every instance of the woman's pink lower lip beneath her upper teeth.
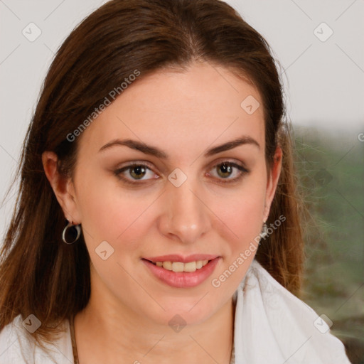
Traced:
<path fill-rule="evenodd" d="M 210 260 L 208 264 L 200 269 L 196 269 L 195 272 L 173 272 L 162 267 L 158 267 L 149 260 L 141 259 L 144 264 L 151 270 L 151 272 L 162 282 L 168 284 L 171 287 L 188 288 L 196 287 L 208 279 L 215 270 L 216 264 L 218 264 L 220 257 Z"/>

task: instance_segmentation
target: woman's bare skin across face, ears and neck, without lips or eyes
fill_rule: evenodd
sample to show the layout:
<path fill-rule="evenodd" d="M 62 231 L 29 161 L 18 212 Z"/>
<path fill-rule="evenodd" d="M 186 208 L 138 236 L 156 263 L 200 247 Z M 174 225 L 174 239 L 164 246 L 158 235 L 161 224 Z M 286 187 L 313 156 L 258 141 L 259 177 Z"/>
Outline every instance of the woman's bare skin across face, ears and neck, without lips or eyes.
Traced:
<path fill-rule="evenodd" d="M 43 154 L 55 196 L 65 217 L 82 224 L 91 258 L 90 302 L 75 316 L 81 364 L 230 362 L 232 295 L 255 254 L 220 287 L 211 281 L 261 232 L 282 166 L 278 147 L 268 178 L 263 109 L 247 114 L 240 103 L 248 95 L 262 105 L 255 87 L 210 63 L 194 63 L 183 72 L 159 71 L 129 85 L 78 137 L 73 178 L 58 174 L 55 154 Z M 259 148 L 244 144 L 203 155 L 242 135 L 255 139 Z M 117 138 L 156 146 L 169 159 L 127 146 L 99 152 Z M 223 161 L 245 166 L 249 173 L 226 183 L 240 171 L 224 172 L 217 166 Z M 150 165 L 141 181 L 135 169 L 122 173 L 139 185 L 114 174 L 128 162 Z M 175 168 L 187 176 L 179 187 L 168 181 Z M 95 249 L 105 240 L 114 253 L 103 260 Z M 141 261 L 196 252 L 222 258 L 205 282 L 187 289 L 160 282 Z M 176 314 L 186 322 L 178 332 L 168 325 Z"/>

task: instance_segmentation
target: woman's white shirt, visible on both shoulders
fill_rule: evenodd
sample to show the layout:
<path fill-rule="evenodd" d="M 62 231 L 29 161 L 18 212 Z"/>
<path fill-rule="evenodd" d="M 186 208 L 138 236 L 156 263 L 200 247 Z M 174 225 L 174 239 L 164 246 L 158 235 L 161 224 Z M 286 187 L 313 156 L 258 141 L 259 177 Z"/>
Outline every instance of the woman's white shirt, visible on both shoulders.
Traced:
<path fill-rule="evenodd" d="M 235 291 L 235 364 L 350 364 L 343 343 L 256 260 Z M 35 345 L 17 316 L 0 332 L 0 364 L 74 364 L 70 324 L 50 348 Z M 232 363 L 234 359 L 232 360 Z"/>

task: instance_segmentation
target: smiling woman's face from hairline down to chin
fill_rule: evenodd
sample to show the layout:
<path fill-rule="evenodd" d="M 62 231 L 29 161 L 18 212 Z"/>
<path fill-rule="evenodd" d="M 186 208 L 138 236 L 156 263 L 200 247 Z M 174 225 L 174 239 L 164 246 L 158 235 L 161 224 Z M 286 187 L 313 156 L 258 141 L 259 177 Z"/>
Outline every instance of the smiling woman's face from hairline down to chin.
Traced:
<path fill-rule="evenodd" d="M 257 102 L 257 90 L 227 69 L 194 64 L 135 81 L 78 137 L 63 208 L 82 224 L 100 304 L 167 325 L 176 314 L 205 321 L 231 299 L 280 168 L 267 178 Z M 194 273 L 145 260 L 162 255 L 218 258 Z"/>

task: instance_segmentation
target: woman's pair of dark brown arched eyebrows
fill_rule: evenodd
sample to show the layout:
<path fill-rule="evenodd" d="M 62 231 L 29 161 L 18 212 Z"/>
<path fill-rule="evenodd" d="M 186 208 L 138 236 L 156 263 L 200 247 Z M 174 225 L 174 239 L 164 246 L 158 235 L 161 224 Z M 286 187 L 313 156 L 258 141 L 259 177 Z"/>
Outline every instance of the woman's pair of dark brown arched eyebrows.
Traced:
<path fill-rule="evenodd" d="M 232 141 L 228 141 L 227 143 L 220 144 L 218 146 L 214 146 L 211 149 L 208 149 L 208 151 L 205 152 L 204 156 L 213 156 L 214 154 L 218 154 L 222 151 L 228 151 L 230 149 L 236 148 L 240 145 L 255 145 L 258 149 L 260 149 L 259 143 L 253 139 L 252 137 L 249 137 L 247 135 L 243 135 L 240 138 L 234 139 Z M 128 146 L 131 149 L 135 149 L 137 151 L 141 151 L 144 154 L 149 154 L 151 156 L 156 156 L 157 158 L 161 159 L 168 159 L 168 154 L 166 154 L 164 151 L 161 151 L 161 149 L 156 148 L 155 146 L 150 146 L 148 144 L 145 144 L 141 141 L 132 140 L 132 139 L 114 139 L 112 141 L 109 141 L 109 143 L 102 146 L 99 150 L 105 151 L 105 149 L 109 149 L 112 146 Z"/>

